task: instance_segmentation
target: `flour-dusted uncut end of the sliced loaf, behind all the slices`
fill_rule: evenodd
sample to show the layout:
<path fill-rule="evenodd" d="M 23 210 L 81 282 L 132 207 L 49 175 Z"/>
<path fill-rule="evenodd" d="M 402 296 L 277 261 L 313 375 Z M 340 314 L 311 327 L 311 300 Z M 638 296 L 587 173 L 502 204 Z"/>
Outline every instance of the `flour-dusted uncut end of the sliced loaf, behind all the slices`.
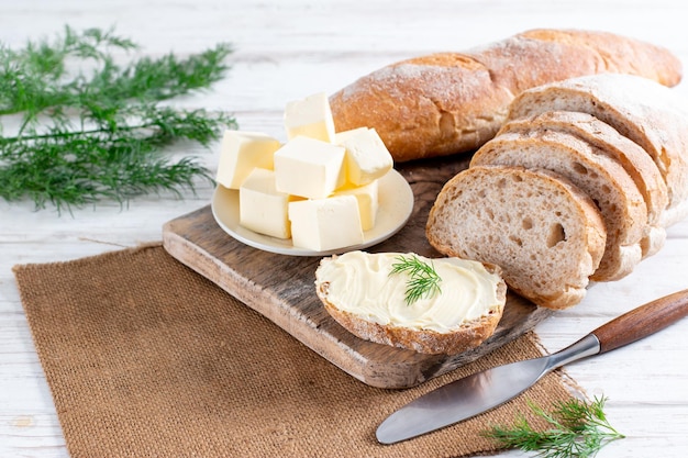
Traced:
<path fill-rule="evenodd" d="M 668 192 L 667 227 L 688 215 L 688 104 L 672 89 L 631 75 L 595 75 L 532 88 L 511 103 L 507 122 L 547 111 L 588 113 L 639 144 Z"/>

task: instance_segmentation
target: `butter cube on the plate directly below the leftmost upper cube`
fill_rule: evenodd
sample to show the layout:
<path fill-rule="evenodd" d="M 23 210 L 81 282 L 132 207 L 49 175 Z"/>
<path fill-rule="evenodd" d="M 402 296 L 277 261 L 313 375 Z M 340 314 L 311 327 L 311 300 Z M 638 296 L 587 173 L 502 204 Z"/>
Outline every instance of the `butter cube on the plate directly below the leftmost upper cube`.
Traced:
<path fill-rule="evenodd" d="M 240 224 L 259 234 L 291 237 L 289 194 L 275 188 L 275 171 L 255 168 L 238 189 Z"/>

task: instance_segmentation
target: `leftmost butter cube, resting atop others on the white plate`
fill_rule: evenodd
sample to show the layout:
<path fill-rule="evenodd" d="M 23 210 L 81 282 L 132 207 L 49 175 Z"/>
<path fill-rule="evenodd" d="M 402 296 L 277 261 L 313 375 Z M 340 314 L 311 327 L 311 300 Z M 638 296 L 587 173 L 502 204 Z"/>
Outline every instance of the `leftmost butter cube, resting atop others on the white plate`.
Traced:
<path fill-rule="evenodd" d="M 254 168 L 273 169 L 273 155 L 280 143 L 259 132 L 225 131 L 220 150 L 217 181 L 238 189 Z"/>

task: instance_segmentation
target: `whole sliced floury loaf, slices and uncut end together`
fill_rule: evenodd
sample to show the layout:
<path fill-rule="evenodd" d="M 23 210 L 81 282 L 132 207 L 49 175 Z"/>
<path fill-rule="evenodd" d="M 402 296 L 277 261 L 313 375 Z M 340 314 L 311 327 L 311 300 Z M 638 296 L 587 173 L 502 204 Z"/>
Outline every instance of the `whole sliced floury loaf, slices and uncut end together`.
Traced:
<path fill-rule="evenodd" d="M 688 214 L 688 105 L 677 97 L 626 75 L 522 92 L 439 194 L 430 243 L 499 265 L 514 291 L 552 309 L 580 302 L 590 280 L 625 277 Z"/>

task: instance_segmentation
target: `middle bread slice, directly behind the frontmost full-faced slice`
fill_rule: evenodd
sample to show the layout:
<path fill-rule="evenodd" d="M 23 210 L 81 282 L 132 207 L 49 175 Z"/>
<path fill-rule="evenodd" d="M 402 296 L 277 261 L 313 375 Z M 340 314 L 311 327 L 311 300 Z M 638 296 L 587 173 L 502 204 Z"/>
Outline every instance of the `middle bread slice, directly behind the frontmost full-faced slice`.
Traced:
<path fill-rule="evenodd" d="M 607 246 L 591 279 L 618 280 L 642 259 L 647 209 L 637 187 L 613 159 L 572 135 L 544 130 L 503 133 L 486 143 L 470 165 L 544 168 L 568 178 L 599 206 L 607 227 Z"/>

